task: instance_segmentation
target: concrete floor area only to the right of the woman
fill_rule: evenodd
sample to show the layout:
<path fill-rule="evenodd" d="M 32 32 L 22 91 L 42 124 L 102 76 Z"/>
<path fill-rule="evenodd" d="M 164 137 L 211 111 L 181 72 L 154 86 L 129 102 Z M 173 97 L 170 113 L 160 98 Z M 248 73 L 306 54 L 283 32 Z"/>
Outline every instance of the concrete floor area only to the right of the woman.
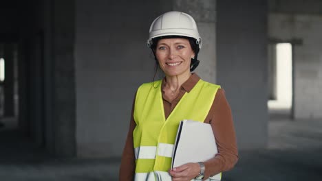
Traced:
<path fill-rule="evenodd" d="M 265 150 L 240 151 L 223 180 L 322 180 L 322 120 L 274 119 L 268 142 Z"/>

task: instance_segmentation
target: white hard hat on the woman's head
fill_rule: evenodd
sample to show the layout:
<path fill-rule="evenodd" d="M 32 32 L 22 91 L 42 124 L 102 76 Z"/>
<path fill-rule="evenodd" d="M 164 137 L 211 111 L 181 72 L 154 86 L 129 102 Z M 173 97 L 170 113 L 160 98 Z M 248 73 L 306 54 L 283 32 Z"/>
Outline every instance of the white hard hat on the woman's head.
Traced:
<path fill-rule="evenodd" d="M 184 12 L 166 12 L 156 18 L 149 31 L 149 40 L 147 44 L 149 47 L 152 45 L 152 38 L 160 36 L 187 36 L 195 38 L 199 48 L 202 47 L 202 38 L 200 37 L 197 29 L 197 24 L 193 17 Z"/>

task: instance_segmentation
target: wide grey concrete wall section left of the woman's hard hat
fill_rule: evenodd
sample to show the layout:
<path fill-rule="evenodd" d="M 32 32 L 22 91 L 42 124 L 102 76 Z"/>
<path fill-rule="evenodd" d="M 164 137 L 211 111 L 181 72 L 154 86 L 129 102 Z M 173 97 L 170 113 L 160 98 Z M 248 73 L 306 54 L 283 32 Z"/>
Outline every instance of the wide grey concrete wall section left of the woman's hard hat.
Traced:
<path fill-rule="evenodd" d="M 120 156 L 136 88 L 153 80 L 149 25 L 171 8 L 171 1 L 77 1 L 78 156 Z"/>

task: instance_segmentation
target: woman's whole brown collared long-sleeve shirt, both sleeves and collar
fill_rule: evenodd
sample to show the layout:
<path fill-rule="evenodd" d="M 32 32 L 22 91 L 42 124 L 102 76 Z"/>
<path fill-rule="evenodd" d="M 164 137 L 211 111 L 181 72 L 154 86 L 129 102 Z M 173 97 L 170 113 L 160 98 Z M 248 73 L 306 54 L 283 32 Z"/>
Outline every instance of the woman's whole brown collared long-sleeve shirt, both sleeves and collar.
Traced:
<path fill-rule="evenodd" d="M 164 96 L 163 90 L 165 80 L 162 81 L 162 99 L 166 119 L 167 117 L 169 117 L 169 114 L 178 104 L 184 93 L 189 93 L 189 91 L 195 86 L 195 84 L 197 84 L 199 80 L 200 77 L 197 74 L 194 73 L 193 75 L 191 75 L 189 79 L 186 80 L 184 84 L 182 84 L 178 97 L 173 99 L 173 101 L 169 101 L 167 97 Z M 119 173 L 120 181 L 129 181 L 133 180 L 134 178 L 136 162 L 133 149 L 133 130 L 136 127 L 136 123 L 133 119 L 133 110 L 134 105 L 131 113 L 131 121 L 129 125 L 129 132 L 127 134 L 127 141 L 125 143 L 122 154 Z M 206 167 L 204 178 L 208 178 L 209 176 L 214 176 L 222 171 L 232 169 L 238 160 L 233 117 L 228 101 L 226 100 L 224 90 L 222 88 L 217 91 L 213 105 L 211 106 L 211 109 L 209 110 L 204 123 L 211 124 L 218 148 L 218 154 L 216 154 L 214 158 L 204 162 L 204 165 Z"/>

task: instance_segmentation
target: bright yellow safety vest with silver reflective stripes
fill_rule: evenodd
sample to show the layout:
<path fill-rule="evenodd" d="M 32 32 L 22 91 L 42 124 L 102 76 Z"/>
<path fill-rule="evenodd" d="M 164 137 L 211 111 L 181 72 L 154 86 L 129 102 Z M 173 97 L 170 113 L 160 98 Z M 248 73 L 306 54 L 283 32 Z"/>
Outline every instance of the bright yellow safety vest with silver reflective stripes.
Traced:
<path fill-rule="evenodd" d="M 162 80 L 142 84 L 136 94 L 133 146 L 136 155 L 135 180 L 138 181 L 171 180 L 168 171 L 171 169 L 173 144 L 180 121 L 204 122 L 220 88 L 199 80 L 165 119 L 161 84 Z M 212 179 L 221 180 L 221 173 Z"/>

